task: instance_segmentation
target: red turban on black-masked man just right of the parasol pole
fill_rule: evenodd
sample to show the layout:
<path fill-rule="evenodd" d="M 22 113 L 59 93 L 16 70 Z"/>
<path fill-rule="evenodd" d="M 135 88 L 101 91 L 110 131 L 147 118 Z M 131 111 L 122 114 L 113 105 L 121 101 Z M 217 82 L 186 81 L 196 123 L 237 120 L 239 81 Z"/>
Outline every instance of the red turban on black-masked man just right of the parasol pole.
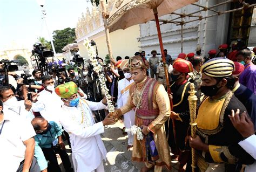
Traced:
<path fill-rule="evenodd" d="M 181 59 L 181 58 L 177 58 L 174 62 L 173 62 L 173 68 L 175 68 L 175 70 L 181 72 L 181 73 L 190 73 L 193 72 L 193 65 L 191 64 L 190 61 Z"/>

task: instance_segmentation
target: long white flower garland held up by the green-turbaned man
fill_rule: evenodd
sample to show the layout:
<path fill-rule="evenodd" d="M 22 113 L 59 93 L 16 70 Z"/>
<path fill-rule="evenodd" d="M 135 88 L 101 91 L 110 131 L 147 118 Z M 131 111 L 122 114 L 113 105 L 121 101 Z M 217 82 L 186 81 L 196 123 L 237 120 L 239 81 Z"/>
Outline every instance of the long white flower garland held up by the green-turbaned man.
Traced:
<path fill-rule="evenodd" d="M 105 97 L 107 99 L 107 108 L 109 109 L 109 112 L 112 113 L 112 112 L 114 112 L 114 106 L 111 101 L 111 96 L 109 95 L 109 89 L 107 89 L 107 87 L 106 87 L 106 78 L 105 78 L 104 74 L 101 73 L 102 65 L 100 65 L 98 63 L 97 59 L 95 58 L 97 56 L 97 54 L 95 52 L 95 49 L 91 46 L 91 43 L 89 42 L 88 39 L 84 40 L 84 46 L 86 47 L 86 49 L 88 51 L 88 55 L 90 57 L 90 60 L 91 60 L 92 66 L 93 66 L 93 71 L 95 71 L 98 74 L 100 87 L 102 87 L 102 89 L 105 92 Z"/>

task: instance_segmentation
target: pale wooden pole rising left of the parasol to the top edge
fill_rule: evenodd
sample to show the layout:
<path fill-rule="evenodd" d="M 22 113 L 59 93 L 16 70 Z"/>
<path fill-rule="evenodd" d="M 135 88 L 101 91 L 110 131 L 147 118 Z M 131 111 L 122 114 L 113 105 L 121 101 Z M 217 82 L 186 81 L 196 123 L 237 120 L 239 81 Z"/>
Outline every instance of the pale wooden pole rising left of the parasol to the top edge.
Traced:
<path fill-rule="evenodd" d="M 107 28 L 107 18 L 109 18 L 109 13 L 106 12 L 106 6 L 105 6 L 103 0 L 100 0 L 100 4 L 102 5 L 102 17 L 103 17 L 104 28 L 105 28 L 107 50 L 109 51 L 110 59 L 113 59 L 112 47 L 111 47 L 110 36 L 109 36 L 109 29 Z"/>

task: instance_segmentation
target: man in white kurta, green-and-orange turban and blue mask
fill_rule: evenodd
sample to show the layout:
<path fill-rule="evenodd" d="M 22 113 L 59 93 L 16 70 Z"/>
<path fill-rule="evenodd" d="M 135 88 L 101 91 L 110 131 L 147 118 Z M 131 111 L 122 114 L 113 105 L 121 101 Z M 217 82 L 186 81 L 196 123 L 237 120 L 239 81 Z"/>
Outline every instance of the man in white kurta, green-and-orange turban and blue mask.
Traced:
<path fill-rule="evenodd" d="M 114 119 L 107 116 L 95 123 L 92 111 L 106 108 L 106 99 L 91 102 L 78 98 L 74 82 L 59 85 L 55 92 L 64 102 L 59 122 L 70 135 L 75 171 L 104 171 L 102 160 L 106 157 L 106 148 L 99 134 L 104 133 L 104 125 L 113 124 Z"/>

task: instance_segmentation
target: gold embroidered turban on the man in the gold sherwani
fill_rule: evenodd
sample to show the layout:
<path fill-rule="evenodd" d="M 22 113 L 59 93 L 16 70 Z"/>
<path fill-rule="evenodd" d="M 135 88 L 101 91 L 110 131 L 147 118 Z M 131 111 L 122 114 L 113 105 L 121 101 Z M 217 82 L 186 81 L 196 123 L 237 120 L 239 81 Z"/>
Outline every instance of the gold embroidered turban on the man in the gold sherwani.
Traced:
<path fill-rule="evenodd" d="M 149 61 L 142 59 L 140 56 L 134 56 L 129 59 L 128 67 L 130 70 L 136 70 L 137 68 L 149 69 Z"/>

